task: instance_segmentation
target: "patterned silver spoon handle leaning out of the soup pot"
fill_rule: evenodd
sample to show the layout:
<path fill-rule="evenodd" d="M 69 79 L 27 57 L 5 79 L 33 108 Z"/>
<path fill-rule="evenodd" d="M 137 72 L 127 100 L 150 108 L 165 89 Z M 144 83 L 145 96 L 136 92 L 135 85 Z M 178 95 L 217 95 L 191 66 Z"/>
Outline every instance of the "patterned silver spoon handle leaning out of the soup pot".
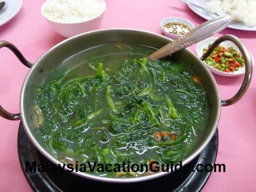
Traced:
<path fill-rule="evenodd" d="M 160 59 L 165 57 L 166 55 L 185 49 L 201 40 L 204 40 L 216 33 L 219 33 L 220 31 L 225 29 L 231 23 L 231 21 L 232 19 L 229 15 L 210 19 L 207 22 L 180 36 L 179 38 L 173 40 L 159 50 L 155 51 L 154 53 L 149 55 L 148 58 Z"/>

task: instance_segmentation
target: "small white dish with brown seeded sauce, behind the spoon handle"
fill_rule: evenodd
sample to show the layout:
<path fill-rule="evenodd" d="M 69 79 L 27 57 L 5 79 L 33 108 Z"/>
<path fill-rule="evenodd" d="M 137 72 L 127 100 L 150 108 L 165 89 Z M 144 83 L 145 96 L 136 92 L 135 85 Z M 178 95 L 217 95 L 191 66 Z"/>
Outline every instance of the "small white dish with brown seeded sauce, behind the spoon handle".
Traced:
<path fill-rule="evenodd" d="M 195 28 L 189 20 L 180 17 L 167 17 L 161 21 L 160 27 L 165 36 L 176 39 Z"/>

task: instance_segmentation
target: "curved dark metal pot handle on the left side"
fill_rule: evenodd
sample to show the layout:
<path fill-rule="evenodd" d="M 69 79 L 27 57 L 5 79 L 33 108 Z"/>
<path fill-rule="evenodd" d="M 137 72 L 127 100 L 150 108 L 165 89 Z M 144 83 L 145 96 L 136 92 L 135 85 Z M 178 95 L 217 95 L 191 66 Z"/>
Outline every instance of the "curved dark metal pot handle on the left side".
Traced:
<path fill-rule="evenodd" d="M 16 57 L 19 59 L 20 62 L 23 63 L 23 65 L 27 66 L 28 68 L 32 67 L 32 63 L 27 61 L 27 59 L 25 59 L 25 57 L 22 55 L 22 53 L 20 53 L 20 51 L 14 46 L 12 45 L 10 42 L 8 41 L 0 41 L 0 49 L 6 47 L 8 49 L 10 49 L 15 55 Z M 7 112 L 6 110 L 4 110 L 4 108 L 0 105 L 0 116 L 9 119 L 9 120 L 20 120 L 20 113 L 17 114 L 12 114 Z"/>

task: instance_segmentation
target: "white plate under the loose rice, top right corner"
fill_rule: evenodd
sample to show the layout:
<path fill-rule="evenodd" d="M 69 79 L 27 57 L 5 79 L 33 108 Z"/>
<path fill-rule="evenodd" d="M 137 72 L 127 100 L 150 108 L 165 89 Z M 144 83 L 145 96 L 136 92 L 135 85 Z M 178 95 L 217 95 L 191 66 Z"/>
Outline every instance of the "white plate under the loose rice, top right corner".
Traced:
<path fill-rule="evenodd" d="M 193 3 L 197 3 L 198 5 L 201 5 L 203 7 L 204 7 L 206 2 L 208 2 L 208 0 L 196 0 L 196 1 L 193 1 Z M 196 8 L 196 7 L 193 7 L 193 6 L 190 6 L 190 5 L 188 5 L 188 7 L 192 11 L 194 11 L 196 14 L 198 14 L 199 16 L 205 18 L 206 20 L 209 20 L 209 19 L 212 19 L 212 18 L 216 17 L 216 15 L 210 15 L 210 13 L 207 13 L 207 12 L 205 12 L 202 9 L 199 9 L 199 8 Z M 254 26 L 254 27 L 247 27 L 247 26 L 245 26 L 241 22 L 232 22 L 232 24 L 230 24 L 228 26 L 228 28 L 230 28 L 230 29 L 238 29 L 238 30 L 243 30 L 243 31 L 256 31 L 256 26 Z"/>

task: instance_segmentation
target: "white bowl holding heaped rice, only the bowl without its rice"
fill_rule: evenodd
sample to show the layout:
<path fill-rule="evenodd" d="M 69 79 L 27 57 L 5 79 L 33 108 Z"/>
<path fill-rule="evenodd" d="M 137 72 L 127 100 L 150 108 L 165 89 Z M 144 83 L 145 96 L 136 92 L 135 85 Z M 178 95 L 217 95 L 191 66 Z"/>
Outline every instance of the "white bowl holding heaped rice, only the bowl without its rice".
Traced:
<path fill-rule="evenodd" d="M 50 26 L 58 34 L 60 34 L 61 36 L 64 36 L 64 37 L 72 37 L 72 36 L 80 34 L 80 33 L 88 32 L 88 31 L 94 31 L 94 30 L 98 29 L 101 22 L 102 22 L 104 12 L 106 10 L 106 4 L 105 4 L 104 0 L 97 0 L 97 1 L 101 2 L 104 5 L 103 11 L 98 16 L 96 16 L 96 17 L 94 17 L 90 20 L 85 20 L 84 22 L 62 23 L 62 22 L 56 22 L 54 20 L 51 20 L 51 19 L 49 19 L 45 16 L 44 8 L 45 8 L 45 5 L 48 3 L 48 1 L 46 1 L 42 5 L 41 14 L 42 14 L 42 16 L 45 17 L 45 19 L 50 24 Z"/>

